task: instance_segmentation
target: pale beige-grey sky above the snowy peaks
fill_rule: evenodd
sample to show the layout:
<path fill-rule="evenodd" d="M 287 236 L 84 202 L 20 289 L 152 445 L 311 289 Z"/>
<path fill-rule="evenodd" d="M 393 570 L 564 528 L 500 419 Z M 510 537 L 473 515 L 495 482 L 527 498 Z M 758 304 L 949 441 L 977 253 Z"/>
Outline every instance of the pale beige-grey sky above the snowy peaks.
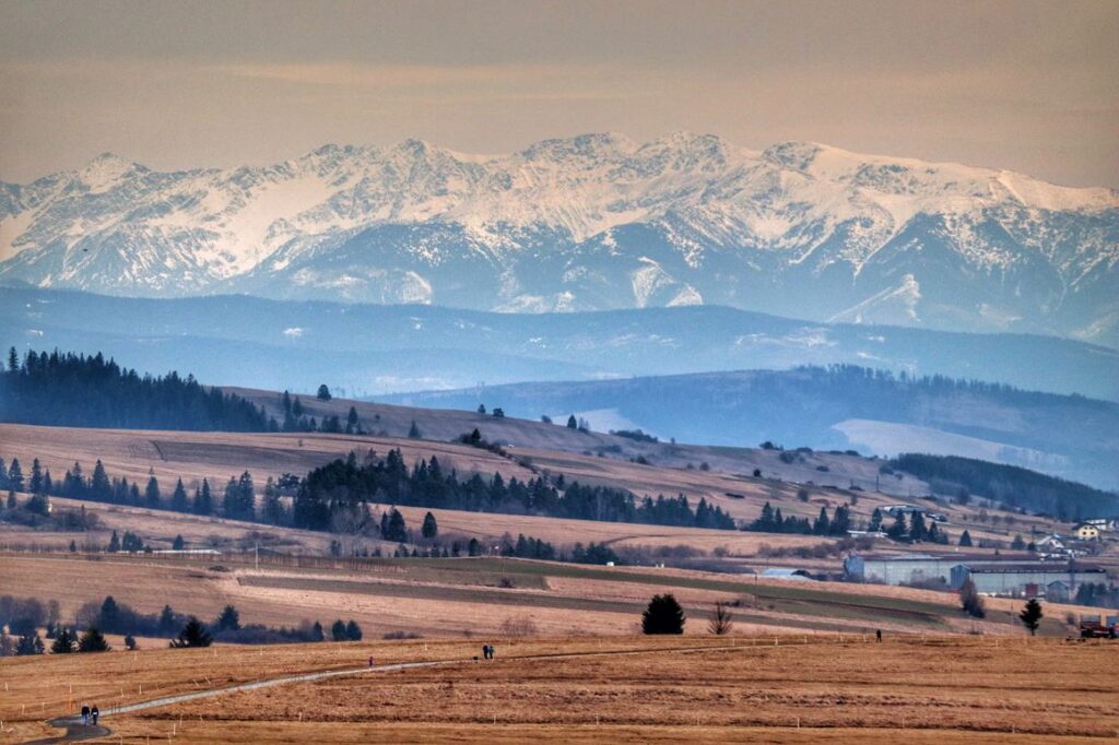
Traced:
<path fill-rule="evenodd" d="M 1119 188 L 1119 1 L 0 0 L 0 180 L 674 131 Z"/>

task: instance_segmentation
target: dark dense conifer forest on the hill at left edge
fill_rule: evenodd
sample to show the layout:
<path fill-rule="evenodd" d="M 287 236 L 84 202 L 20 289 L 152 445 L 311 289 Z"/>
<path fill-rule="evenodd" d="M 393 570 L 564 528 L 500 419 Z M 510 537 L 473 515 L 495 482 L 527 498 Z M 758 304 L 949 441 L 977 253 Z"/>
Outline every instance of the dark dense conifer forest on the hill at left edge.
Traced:
<path fill-rule="evenodd" d="M 0 374 L 0 422 L 134 430 L 265 432 L 275 422 L 250 402 L 177 372 L 140 376 L 101 353 L 12 349 Z"/>

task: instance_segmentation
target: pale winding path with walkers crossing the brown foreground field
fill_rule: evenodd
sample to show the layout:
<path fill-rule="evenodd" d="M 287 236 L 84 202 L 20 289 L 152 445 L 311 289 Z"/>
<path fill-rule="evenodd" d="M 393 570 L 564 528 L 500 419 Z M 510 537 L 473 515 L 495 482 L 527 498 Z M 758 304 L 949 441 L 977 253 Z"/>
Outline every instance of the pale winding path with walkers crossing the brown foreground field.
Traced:
<path fill-rule="evenodd" d="M 658 649 L 621 649 L 621 650 L 603 650 L 603 651 L 589 651 L 589 652 L 556 652 L 549 654 L 525 654 L 521 657 L 507 657 L 501 659 L 510 661 L 554 660 L 554 659 L 576 658 L 576 657 L 623 657 L 632 654 L 656 654 L 662 652 L 725 651 L 736 648 L 737 645 L 734 644 L 717 645 L 717 647 L 661 647 Z M 473 659 L 455 659 L 455 660 L 430 660 L 425 662 L 396 662 L 393 664 L 377 664 L 373 667 L 345 668 L 342 670 L 325 670 L 321 672 L 304 672 L 294 676 L 282 676 L 280 678 L 256 680 L 253 682 L 228 686 L 226 688 L 191 691 L 189 694 L 175 694 L 172 696 L 162 696 L 160 698 L 153 698 L 148 701 L 138 701 L 135 704 L 124 704 L 121 706 L 107 707 L 101 711 L 101 718 L 104 719 L 105 717 L 114 715 L 131 714 L 133 711 L 143 711 L 145 709 L 154 709 L 162 706 L 171 706 L 172 704 L 196 701 L 203 698 L 214 698 L 216 696 L 225 696 L 227 694 L 235 694 L 238 691 L 260 690 L 261 688 L 272 688 L 274 686 L 283 686 L 292 682 L 311 682 L 316 680 L 326 680 L 328 678 L 341 678 L 346 676 L 358 676 L 370 672 L 394 672 L 396 670 L 412 670 L 415 668 L 434 668 L 449 664 L 466 664 L 470 662 L 477 663 L 478 659 L 473 658 Z M 106 727 L 102 726 L 94 727 L 94 726 L 83 725 L 81 722 L 81 717 L 77 716 L 51 719 L 47 724 L 50 725 L 51 727 L 65 727 L 66 734 L 48 739 L 35 741 L 32 745 L 75 742 L 79 739 L 93 739 L 95 737 L 105 737 L 112 734 L 112 730 L 107 729 Z"/>

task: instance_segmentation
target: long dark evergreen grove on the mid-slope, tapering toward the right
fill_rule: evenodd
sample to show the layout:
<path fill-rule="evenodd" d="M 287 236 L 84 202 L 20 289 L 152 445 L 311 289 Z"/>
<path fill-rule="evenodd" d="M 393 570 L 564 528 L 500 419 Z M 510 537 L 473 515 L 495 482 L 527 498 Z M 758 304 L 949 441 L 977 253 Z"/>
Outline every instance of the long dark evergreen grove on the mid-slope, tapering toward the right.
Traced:
<path fill-rule="evenodd" d="M 356 454 L 318 468 L 300 483 L 292 509 L 292 525 L 310 530 L 330 530 L 339 515 L 364 510 L 367 503 L 542 515 L 548 517 L 733 529 L 734 521 L 722 508 L 700 499 L 695 509 L 688 499 L 659 496 L 638 499 L 632 492 L 609 487 L 571 483 L 562 491 L 544 479 L 508 482 L 499 474 L 487 482 L 473 474 L 460 480 L 454 470 L 444 472 L 438 456 L 420 460 L 411 469 L 398 450 L 384 459 Z M 392 519 L 389 515 L 389 520 Z M 398 534 L 382 530 L 387 540 Z"/>

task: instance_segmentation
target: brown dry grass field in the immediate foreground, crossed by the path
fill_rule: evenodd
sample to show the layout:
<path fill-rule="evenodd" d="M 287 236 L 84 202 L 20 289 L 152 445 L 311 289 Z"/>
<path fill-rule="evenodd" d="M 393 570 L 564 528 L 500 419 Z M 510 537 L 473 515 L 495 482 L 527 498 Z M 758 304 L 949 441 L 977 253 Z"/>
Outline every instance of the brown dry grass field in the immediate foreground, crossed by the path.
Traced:
<path fill-rule="evenodd" d="M 1064 743 L 1119 734 L 1107 642 L 822 636 L 489 639 L 0 661 L 4 726 L 290 672 L 461 660 L 109 716 L 110 742 Z M 481 643 L 481 640 L 478 641 Z M 92 656 L 91 656 L 92 657 Z M 74 692 L 69 692 L 69 686 Z M 143 685 L 143 692 L 139 690 Z M 25 708 L 26 707 L 26 708 Z M 48 711 L 49 716 L 51 713 Z"/>

